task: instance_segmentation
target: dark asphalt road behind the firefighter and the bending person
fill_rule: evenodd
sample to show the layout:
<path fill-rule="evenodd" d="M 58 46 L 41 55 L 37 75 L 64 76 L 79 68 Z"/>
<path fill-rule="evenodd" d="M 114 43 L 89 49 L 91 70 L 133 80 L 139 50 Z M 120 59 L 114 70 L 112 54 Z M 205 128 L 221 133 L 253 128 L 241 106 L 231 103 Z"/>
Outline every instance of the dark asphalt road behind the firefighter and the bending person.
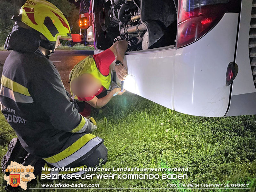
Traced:
<path fill-rule="evenodd" d="M 0 51 L 0 63 L 4 64 L 5 59 L 11 51 Z M 55 51 L 50 57 L 58 69 L 65 88 L 69 91 L 68 76 L 71 69 L 88 55 L 94 54 L 94 50 L 74 50 L 74 51 Z M 2 74 L 3 66 L 0 66 L 0 74 Z"/>

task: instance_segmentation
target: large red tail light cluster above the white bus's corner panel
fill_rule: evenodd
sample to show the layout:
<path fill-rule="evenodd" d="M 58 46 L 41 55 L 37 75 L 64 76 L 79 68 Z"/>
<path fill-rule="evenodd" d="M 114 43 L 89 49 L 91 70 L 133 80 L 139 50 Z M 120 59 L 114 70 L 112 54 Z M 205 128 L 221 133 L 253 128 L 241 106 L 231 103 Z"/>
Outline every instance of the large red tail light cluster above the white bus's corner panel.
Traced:
<path fill-rule="evenodd" d="M 188 45 L 216 25 L 225 12 L 239 11 L 237 0 L 180 0 L 177 47 Z"/>

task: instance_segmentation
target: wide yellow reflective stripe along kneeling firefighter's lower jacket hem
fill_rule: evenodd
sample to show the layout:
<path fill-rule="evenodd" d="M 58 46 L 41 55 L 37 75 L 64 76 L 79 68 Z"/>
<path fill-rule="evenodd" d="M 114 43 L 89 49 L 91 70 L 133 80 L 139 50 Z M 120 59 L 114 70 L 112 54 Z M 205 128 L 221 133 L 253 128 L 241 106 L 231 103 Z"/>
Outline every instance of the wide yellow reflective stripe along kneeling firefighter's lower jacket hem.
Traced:
<path fill-rule="evenodd" d="M 85 134 L 83 137 L 80 137 L 78 140 L 76 140 L 76 142 L 74 142 L 72 145 L 70 145 L 68 148 L 64 149 L 60 153 L 43 159 L 48 163 L 56 163 L 58 161 L 61 161 L 62 159 L 65 159 L 66 157 L 75 153 L 77 150 L 83 147 L 88 141 L 92 140 L 95 137 L 95 135 L 92 135 L 90 133 Z"/>

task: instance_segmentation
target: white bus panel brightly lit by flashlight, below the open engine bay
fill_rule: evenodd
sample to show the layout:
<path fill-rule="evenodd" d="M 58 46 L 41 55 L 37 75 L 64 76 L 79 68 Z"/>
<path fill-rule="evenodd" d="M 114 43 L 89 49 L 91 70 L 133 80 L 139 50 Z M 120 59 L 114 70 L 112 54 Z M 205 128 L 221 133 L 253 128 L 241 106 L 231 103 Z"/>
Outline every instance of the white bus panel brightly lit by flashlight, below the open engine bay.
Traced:
<path fill-rule="evenodd" d="M 175 48 L 172 48 L 125 55 L 124 66 L 128 76 L 124 82 L 124 89 L 174 110 L 172 74 L 175 52 Z M 95 53 L 99 51 L 95 50 Z M 115 70 L 114 62 L 111 69 Z M 117 84 L 121 84 L 118 79 Z"/>

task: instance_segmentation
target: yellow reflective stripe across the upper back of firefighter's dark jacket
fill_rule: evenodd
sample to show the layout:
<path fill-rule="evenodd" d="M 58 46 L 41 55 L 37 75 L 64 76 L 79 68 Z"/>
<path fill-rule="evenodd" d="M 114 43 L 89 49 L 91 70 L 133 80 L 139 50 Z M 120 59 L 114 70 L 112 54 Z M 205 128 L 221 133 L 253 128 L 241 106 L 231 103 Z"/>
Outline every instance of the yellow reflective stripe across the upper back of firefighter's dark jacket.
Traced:
<path fill-rule="evenodd" d="M 3 75 L 2 75 L 2 79 L 1 79 L 1 84 L 2 84 L 2 86 L 11 89 L 13 92 L 18 92 L 18 93 L 26 95 L 26 96 L 31 96 L 28 92 L 27 87 L 24 87 L 23 85 L 15 82 L 15 81 L 12 81 L 11 79 L 9 79 Z"/>

